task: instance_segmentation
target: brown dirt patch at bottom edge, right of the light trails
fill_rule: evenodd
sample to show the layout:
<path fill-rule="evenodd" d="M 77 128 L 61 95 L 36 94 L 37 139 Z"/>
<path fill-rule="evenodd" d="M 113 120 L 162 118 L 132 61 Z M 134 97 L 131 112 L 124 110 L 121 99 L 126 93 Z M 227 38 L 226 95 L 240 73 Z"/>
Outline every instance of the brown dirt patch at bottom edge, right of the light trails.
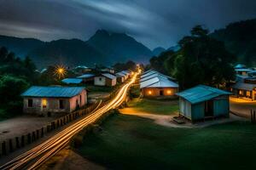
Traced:
<path fill-rule="evenodd" d="M 54 169 L 54 170 L 102 170 L 106 169 L 101 167 L 91 161 L 84 159 L 84 157 L 79 156 L 73 150 L 68 147 L 61 150 L 55 156 L 49 159 L 40 170 Z"/>

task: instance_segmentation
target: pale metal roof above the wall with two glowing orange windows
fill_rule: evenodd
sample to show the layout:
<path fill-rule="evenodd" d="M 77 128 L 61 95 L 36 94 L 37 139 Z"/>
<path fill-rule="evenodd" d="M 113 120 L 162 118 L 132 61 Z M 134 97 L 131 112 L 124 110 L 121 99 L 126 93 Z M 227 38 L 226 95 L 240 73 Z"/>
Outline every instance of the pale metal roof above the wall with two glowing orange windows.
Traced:
<path fill-rule="evenodd" d="M 140 88 L 178 88 L 178 84 L 168 80 L 167 78 L 158 76 L 147 81 L 140 82 Z"/>

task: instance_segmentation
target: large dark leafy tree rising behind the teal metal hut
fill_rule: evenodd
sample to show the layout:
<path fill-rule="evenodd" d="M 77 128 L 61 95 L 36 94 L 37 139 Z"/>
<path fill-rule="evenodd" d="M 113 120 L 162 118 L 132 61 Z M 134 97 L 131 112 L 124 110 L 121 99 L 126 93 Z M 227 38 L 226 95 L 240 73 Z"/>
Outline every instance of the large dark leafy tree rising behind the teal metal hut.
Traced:
<path fill-rule="evenodd" d="M 191 36 L 179 43 L 182 48 L 166 59 L 166 68 L 177 78 L 181 89 L 198 84 L 216 87 L 235 78 L 230 64 L 236 57 L 225 49 L 223 42 L 209 37 L 206 29 L 195 26 Z"/>

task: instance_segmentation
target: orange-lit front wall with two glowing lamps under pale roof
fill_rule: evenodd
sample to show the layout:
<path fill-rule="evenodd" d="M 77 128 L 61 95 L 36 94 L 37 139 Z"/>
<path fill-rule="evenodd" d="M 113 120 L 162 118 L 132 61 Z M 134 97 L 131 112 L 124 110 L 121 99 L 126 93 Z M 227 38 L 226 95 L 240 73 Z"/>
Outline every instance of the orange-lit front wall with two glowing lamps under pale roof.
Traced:
<path fill-rule="evenodd" d="M 160 90 L 163 90 L 163 96 L 174 96 L 177 93 L 178 88 L 143 88 L 142 89 L 144 97 L 160 96 Z M 171 94 L 169 94 L 169 91 L 171 92 Z"/>

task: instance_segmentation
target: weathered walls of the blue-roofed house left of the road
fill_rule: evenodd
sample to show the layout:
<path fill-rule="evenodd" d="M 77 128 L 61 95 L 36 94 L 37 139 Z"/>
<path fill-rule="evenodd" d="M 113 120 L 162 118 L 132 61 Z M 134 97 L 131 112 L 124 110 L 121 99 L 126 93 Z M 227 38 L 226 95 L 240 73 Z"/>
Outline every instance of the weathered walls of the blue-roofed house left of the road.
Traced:
<path fill-rule="evenodd" d="M 80 102 L 81 95 L 81 102 Z M 32 107 L 28 107 L 28 99 L 33 100 Z M 43 107 L 43 100 L 46 99 L 46 107 Z M 60 99 L 63 100 L 64 109 L 60 109 Z M 77 108 L 76 100 L 78 99 L 79 106 L 87 104 L 87 93 L 83 90 L 79 95 L 73 98 L 24 98 L 23 99 L 23 111 L 29 114 L 46 115 L 48 112 L 51 113 L 69 113 Z"/>

